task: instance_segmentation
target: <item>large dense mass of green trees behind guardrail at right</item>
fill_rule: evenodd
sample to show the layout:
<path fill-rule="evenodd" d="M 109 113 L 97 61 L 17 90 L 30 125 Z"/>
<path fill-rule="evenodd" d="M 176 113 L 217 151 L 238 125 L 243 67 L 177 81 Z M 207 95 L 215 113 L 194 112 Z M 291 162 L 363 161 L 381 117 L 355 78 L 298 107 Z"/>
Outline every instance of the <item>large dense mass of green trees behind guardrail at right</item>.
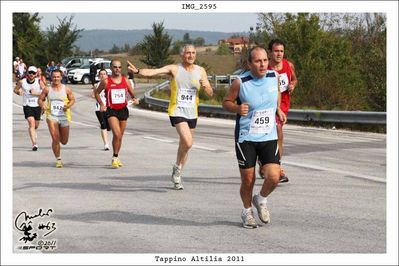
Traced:
<path fill-rule="evenodd" d="M 292 106 L 384 109 L 384 19 L 377 16 L 368 24 L 358 14 L 262 13 L 259 20 L 251 42 L 267 47 L 271 39 L 282 39 L 286 57 L 295 64 L 298 90 Z"/>

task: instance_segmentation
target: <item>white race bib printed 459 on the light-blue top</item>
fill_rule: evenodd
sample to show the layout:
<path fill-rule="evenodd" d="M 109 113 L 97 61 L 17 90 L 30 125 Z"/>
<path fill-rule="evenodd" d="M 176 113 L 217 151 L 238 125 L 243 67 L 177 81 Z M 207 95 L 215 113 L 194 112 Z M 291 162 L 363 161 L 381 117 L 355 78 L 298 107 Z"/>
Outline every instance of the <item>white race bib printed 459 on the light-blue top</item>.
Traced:
<path fill-rule="evenodd" d="M 249 128 L 249 134 L 269 134 L 275 121 L 273 108 L 254 111 Z"/>

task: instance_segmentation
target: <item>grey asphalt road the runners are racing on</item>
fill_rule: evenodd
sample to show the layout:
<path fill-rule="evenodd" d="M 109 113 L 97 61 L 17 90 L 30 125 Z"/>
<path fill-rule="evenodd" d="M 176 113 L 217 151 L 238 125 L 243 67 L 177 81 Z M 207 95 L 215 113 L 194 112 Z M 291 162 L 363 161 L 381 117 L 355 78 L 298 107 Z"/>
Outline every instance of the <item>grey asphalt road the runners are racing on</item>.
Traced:
<path fill-rule="evenodd" d="M 185 189 L 176 191 L 170 174 L 178 138 L 167 115 L 131 109 L 124 165 L 111 169 L 89 89 L 72 87 L 77 102 L 62 169 L 54 167 L 45 121 L 39 150 L 30 150 L 22 99 L 13 96 L 13 216 L 21 224 L 18 215 L 26 212 L 32 222 L 27 235 L 14 227 L 15 252 L 36 246 L 33 252 L 39 240 L 50 247 L 42 251 L 53 253 L 387 251 L 385 134 L 286 125 L 290 182 L 269 197 L 271 224 L 249 230 L 241 227 L 232 120 L 199 118 Z M 261 183 L 257 179 L 255 192 Z M 21 240 L 33 233 L 34 240 Z"/>

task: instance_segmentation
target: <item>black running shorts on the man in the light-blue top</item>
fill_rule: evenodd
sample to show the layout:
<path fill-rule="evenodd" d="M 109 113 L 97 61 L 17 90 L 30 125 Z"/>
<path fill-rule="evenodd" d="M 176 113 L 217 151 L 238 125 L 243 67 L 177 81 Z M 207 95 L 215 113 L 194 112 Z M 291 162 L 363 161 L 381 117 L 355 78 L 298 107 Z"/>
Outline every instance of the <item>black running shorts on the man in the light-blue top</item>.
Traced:
<path fill-rule="evenodd" d="M 267 163 L 280 164 L 277 140 L 236 142 L 236 156 L 238 166 L 243 169 L 255 167 L 257 157 L 259 157 L 262 165 Z"/>

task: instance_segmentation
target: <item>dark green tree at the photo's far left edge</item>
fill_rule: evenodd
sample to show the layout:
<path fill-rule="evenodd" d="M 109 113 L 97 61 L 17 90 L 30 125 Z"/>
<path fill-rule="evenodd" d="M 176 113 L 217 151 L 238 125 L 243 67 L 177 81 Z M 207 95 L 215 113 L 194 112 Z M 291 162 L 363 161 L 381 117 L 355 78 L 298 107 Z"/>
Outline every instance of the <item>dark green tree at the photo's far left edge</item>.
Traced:
<path fill-rule="evenodd" d="M 27 65 L 43 66 L 47 63 L 39 13 L 14 13 L 12 35 L 13 58 L 21 57 Z"/>

